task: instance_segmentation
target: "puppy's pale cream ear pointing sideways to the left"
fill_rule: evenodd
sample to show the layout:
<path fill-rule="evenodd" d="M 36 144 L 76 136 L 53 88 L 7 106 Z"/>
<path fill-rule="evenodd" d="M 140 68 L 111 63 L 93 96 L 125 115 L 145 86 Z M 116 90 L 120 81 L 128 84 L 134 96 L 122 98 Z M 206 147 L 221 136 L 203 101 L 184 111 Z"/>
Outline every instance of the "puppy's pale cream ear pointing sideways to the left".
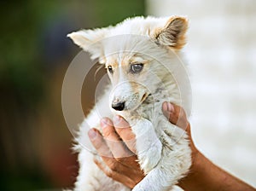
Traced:
<path fill-rule="evenodd" d="M 81 30 L 71 32 L 67 34 L 67 37 L 71 38 L 73 43 L 76 43 L 85 51 L 90 52 L 91 58 L 95 59 L 102 56 L 102 39 L 105 38 L 107 32 L 107 28 Z"/>

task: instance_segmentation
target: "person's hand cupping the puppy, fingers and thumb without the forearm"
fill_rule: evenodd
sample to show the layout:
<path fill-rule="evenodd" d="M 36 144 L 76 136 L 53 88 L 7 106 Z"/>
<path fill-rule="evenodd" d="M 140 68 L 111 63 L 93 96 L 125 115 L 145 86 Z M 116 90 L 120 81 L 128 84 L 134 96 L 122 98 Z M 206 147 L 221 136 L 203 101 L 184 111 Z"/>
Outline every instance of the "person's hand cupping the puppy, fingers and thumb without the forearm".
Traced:
<path fill-rule="evenodd" d="M 186 130 L 191 142 L 190 146 L 196 153 L 196 148 L 190 136 L 190 125 L 182 107 L 165 102 L 163 113 L 172 124 Z M 133 188 L 143 177 L 143 171 L 137 163 L 135 135 L 131 131 L 130 125 L 125 119 L 116 116 L 113 119 L 104 118 L 101 121 L 102 134 L 99 130 L 89 131 L 90 141 L 97 152 L 109 168 L 100 162 L 95 161 L 96 165 L 113 180 L 123 183 L 129 188 Z"/>

